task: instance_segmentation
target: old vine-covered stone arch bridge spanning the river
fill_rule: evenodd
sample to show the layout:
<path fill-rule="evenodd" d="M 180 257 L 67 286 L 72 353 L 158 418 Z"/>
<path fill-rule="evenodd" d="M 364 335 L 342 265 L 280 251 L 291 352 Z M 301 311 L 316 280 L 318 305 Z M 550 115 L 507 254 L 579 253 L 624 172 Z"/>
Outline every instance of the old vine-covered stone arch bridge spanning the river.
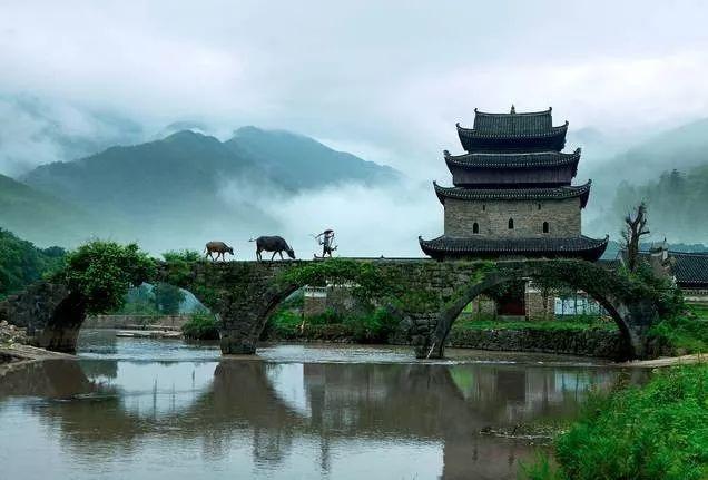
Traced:
<path fill-rule="evenodd" d="M 153 281 L 194 293 L 220 321 L 225 354 L 253 354 L 269 315 L 289 294 L 326 281 L 351 282 L 360 295 L 406 322 L 416 357 L 442 357 L 452 323 L 481 293 L 518 280 L 552 281 L 582 290 L 612 316 L 627 357 L 643 357 L 647 332 L 658 320 L 650 294 L 627 285 L 616 272 L 584 261 L 435 262 L 333 259 L 294 262 L 163 263 Z M 75 351 L 86 316 L 80 295 L 39 283 L 0 303 L 0 320 L 28 327 L 50 350 Z"/>

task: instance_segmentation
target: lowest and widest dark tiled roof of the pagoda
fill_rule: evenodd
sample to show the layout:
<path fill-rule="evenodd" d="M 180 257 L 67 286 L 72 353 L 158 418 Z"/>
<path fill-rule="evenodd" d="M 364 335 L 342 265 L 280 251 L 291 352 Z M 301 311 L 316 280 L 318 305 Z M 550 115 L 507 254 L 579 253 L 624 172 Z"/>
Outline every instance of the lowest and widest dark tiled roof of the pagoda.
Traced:
<path fill-rule="evenodd" d="M 448 237 L 445 235 L 430 241 L 419 237 L 423 253 L 433 258 L 445 256 L 460 257 L 579 257 L 597 261 L 602 256 L 609 236 L 597 239 L 584 235 L 569 238 L 475 238 Z"/>

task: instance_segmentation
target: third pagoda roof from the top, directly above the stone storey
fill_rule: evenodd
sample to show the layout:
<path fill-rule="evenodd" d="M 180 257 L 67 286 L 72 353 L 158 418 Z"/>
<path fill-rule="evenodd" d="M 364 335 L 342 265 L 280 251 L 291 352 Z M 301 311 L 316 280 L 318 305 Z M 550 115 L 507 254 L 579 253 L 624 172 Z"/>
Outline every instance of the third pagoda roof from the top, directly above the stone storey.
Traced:
<path fill-rule="evenodd" d="M 580 197 L 580 206 L 584 208 L 590 197 L 590 185 L 561 186 L 551 188 L 463 188 L 441 187 L 433 182 L 435 194 L 441 204 L 446 198 L 460 200 L 562 200 Z"/>

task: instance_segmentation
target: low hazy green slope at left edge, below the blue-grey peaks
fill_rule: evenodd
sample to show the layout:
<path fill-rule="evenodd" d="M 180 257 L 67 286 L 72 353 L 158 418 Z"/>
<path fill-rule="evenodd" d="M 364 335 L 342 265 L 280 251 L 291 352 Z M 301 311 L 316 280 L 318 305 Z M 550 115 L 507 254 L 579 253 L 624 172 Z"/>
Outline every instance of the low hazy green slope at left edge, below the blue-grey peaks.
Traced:
<path fill-rule="evenodd" d="M 73 245 L 95 224 L 81 208 L 0 175 L 0 228 L 43 246 Z"/>

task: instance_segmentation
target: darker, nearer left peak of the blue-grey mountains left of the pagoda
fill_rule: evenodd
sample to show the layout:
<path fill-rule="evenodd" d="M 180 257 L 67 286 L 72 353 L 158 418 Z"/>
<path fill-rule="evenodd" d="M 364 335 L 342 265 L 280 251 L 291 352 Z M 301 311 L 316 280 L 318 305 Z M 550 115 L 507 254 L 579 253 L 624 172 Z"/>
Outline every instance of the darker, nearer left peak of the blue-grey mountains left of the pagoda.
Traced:
<path fill-rule="evenodd" d="M 218 179 L 243 175 L 248 167 L 252 164 L 216 138 L 185 130 L 76 161 L 42 165 L 22 180 L 90 210 L 154 219 L 165 207 L 213 207 Z"/>

